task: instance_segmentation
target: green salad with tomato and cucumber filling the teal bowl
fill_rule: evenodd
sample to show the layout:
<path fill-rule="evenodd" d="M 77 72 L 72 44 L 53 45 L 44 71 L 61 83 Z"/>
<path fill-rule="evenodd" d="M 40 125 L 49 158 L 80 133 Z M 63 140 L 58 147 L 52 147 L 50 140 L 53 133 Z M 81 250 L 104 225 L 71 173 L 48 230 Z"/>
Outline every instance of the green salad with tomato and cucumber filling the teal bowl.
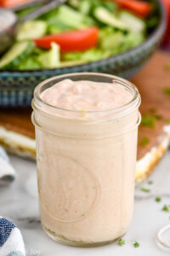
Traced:
<path fill-rule="evenodd" d="M 26 21 L 19 27 L 14 45 L 0 58 L 0 69 L 68 67 L 133 49 L 144 42 L 158 20 L 150 3 L 134 0 L 148 7 L 138 13 L 135 6 L 123 5 L 123 1 L 70 0 Z M 31 10 L 21 10 L 18 15 Z"/>

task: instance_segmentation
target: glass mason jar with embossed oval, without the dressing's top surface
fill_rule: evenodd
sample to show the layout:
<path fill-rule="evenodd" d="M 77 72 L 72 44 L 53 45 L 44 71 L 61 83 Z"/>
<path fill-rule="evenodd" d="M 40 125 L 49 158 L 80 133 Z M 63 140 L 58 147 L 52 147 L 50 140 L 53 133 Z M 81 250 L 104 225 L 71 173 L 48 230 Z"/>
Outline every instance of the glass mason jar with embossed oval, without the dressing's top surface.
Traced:
<path fill-rule="evenodd" d="M 63 79 L 117 84 L 131 93 L 132 101 L 85 113 L 43 102 L 42 91 Z M 43 229 L 55 241 L 98 246 L 127 232 L 133 213 L 140 102 L 133 84 L 107 74 L 66 74 L 37 86 L 32 122 L 40 213 Z"/>

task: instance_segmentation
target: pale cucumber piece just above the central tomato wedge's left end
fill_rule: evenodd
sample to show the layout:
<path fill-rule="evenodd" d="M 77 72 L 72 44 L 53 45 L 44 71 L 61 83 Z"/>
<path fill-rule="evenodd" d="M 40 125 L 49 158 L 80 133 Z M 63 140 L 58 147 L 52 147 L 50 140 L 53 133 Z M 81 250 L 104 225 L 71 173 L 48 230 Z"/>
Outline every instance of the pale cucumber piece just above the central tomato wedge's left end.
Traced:
<path fill-rule="evenodd" d="M 17 39 L 26 40 L 41 38 L 47 32 L 47 23 L 40 20 L 31 20 L 26 21 L 23 25 L 20 26 L 17 33 Z"/>

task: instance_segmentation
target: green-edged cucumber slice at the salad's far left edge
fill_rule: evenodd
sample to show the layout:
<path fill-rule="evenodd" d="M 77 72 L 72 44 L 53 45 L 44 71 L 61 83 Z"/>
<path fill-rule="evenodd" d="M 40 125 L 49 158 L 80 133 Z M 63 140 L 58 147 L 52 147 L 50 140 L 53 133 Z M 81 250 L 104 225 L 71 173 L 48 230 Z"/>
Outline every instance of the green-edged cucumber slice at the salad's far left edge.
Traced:
<path fill-rule="evenodd" d="M 31 41 L 23 41 L 14 44 L 0 60 L 0 69 L 17 66 L 20 61 L 24 60 L 25 57 L 31 53 L 34 46 L 35 44 Z"/>

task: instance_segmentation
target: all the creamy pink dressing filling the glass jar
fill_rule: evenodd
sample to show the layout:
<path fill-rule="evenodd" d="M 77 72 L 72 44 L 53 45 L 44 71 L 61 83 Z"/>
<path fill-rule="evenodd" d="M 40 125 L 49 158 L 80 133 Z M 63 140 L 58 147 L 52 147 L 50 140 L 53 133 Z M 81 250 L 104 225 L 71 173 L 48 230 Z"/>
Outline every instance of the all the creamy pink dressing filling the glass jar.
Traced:
<path fill-rule="evenodd" d="M 99 110 L 121 107 L 133 98 L 117 84 L 68 79 L 41 97 L 54 107 L 97 111 L 93 119 Z M 112 241 L 127 231 L 132 217 L 139 110 L 88 122 L 80 113 L 84 121 L 67 119 L 71 114 L 55 113 L 48 105 L 35 109 L 42 127 L 36 127 L 42 226 L 57 241 Z"/>

